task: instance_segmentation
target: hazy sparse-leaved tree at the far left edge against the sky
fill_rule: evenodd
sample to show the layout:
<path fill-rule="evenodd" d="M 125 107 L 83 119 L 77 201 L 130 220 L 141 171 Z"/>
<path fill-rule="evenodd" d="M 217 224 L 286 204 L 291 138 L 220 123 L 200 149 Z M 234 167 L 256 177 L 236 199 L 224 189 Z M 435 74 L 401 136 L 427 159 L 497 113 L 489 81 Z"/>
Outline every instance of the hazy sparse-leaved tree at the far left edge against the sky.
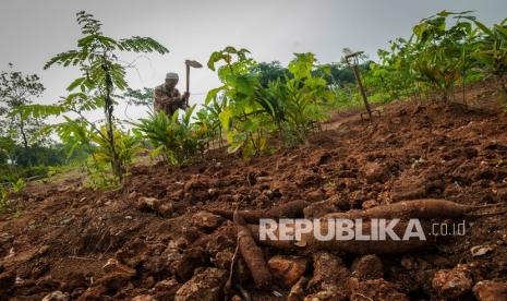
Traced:
<path fill-rule="evenodd" d="M 40 119 L 25 119 L 17 109 L 33 103 L 45 91 L 37 74 L 24 75 L 13 70 L 9 63 L 9 71 L 0 73 L 0 125 L 2 136 L 11 137 L 21 143 L 25 149 L 37 144 L 40 137 L 36 132 L 44 125 Z"/>

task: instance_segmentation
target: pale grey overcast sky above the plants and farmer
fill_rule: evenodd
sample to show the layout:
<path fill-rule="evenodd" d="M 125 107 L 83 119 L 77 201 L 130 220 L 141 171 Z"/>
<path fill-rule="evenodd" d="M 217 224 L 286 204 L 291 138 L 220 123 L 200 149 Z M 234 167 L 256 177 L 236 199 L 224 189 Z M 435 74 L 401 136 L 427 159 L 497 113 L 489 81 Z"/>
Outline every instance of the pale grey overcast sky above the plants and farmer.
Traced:
<path fill-rule="evenodd" d="M 177 72 L 178 88 L 184 91 L 184 60 L 202 62 L 205 68 L 191 71 L 191 103 L 200 104 L 219 85 L 206 68 L 209 55 L 226 46 L 246 48 L 259 62 L 283 64 L 294 52 L 336 62 L 345 47 L 375 59 L 390 39 L 409 37 L 421 19 L 444 9 L 473 10 L 488 25 L 507 17 L 507 0 L 0 0 L 0 70 L 12 62 L 19 71 L 37 73 L 47 89 L 35 103 L 57 101 L 79 70 L 43 65 L 76 47 L 75 13 L 85 10 L 102 22 L 107 36 L 149 36 L 170 50 L 165 56 L 120 55 L 124 61 L 137 58 L 128 74 L 132 88 L 155 87 L 167 72 Z M 124 105 L 117 111 L 123 117 Z M 129 118 L 145 115 L 128 110 Z M 100 111 L 92 113 L 99 118 Z"/>

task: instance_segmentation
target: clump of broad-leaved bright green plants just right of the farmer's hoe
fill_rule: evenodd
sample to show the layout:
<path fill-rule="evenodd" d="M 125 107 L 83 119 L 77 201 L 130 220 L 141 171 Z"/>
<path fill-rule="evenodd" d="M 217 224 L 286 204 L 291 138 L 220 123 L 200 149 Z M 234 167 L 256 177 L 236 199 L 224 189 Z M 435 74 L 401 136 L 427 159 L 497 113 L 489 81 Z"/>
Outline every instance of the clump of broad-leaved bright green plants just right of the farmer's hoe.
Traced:
<path fill-rule="evenodd" d="M 212 89 L 206 101 L 218 94 L 228 99 L 218 116 L 228 150 L 258 155 L 268 149 L 268 139 L 276 132 L 290 145 L 302 142 L 315 121 L 325 117 L 325 105 L 334 100 L 324 79 L 329 68 L 316 68 L 312 53 L 297 53 L 283 79 L 264 79 L 262 84 L 258 72 L 252 72 L 256 63 L 248 53 L 227 47 L 214 52 L 208 62 L 212 70 L 221 63 L 218 77 L 222 86 Z"/>

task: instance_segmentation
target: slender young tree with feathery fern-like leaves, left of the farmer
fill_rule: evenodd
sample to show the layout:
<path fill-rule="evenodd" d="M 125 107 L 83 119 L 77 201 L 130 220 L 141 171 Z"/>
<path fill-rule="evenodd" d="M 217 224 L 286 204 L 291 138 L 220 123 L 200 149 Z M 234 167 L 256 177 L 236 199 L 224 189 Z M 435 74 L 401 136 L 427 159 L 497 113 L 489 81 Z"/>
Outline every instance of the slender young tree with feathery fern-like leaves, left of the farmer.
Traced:
<path fill-rule="evenodd" d="M 123 133 L 119 131 L 119 120 L 114 118 L 116 99 L 121 97 L 117 94 L 128 88 L 125 81 L 126 68 L 132 67 L 119 58 L 119 52 L 158 52 L 167 53 L 169 50 L 158 41 L 149 37 L 130 37 L 113 39 L 105 36 L 101 32 L 101 23 L 94 19 L 92 14 L 81 11 L 76 14 L 77 23 L 81 25 L 82 38 L 77 40 L 77 48 L 62 52 L 51 58 L 45 65 L 48 69 L 55 64 L 62 67 L 79 67 L 82 76 L 75 79 L 68 87 L 70 95 L 55 106 L 32 106 L 26 108 L 25 112 L 32 112 L 34 116 L 61 115 L 74 112 L 80 116 L 80 122 L 67 118 L 67 122 L 60 124 L 60 133 L 77 133 L 76 127 L 86 127 L 93 133 L 94 142 L 101 149 L 102 158 L 107 158 L 110 164 L 113 176 L 122 182 L 125 172 L 124 162 L 129 161 L 122 158 L 122 141 L 126 141 Z M 102 124 L 88 121 L 84 112 L 102 109 L 105 120 Z M 69 131 L 65 131 L 69 125 Z M 117 137 L 121 137 L 120 142 Z M 82 141 L 83 140 L 77 140 Z"/>

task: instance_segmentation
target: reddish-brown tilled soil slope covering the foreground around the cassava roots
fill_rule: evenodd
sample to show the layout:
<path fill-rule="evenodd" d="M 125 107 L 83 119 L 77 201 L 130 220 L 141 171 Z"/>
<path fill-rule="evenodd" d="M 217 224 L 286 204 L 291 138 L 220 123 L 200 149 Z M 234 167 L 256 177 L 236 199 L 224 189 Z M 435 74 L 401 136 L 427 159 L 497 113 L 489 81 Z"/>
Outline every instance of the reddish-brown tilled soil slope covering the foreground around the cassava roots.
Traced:
<path fill-rule="evenodd" d="M 0 217 L 0 300 L 49 293 L 47 300 L 219 300 L 236 229 L 203 212 L 298 200 L 314 203 L 312 214 L 322 208 L 317 202 L 337 210 L 422 197 L 505 203 L 506 177 L 507 118 L 499 110 L 411 101 L 384 107 L 375 123 L 351 118 L 275 155 L 244 160 L 214 149 L 195 165 L 137 166 L 122 192 L 94 192 L 80 180 L 32 184 L 17 196 L 23 214 Z M 506 217 L 479 218 L 466 236 L 409 254 L 291 254 L 263 246 L 266 260 L 278 256 L 273 270 L 281 275 L 259 292 L 239 260 L 234 280 L 242 288 L 233 286 L 231 298 L 245 290 L 254 300 L 473 300 L 488 293 L 488 284 L 502 292 Z M 473 246 L 482 251 L 472 254 Z M 303 278 L 287 280 L 294 273 Z"/>

